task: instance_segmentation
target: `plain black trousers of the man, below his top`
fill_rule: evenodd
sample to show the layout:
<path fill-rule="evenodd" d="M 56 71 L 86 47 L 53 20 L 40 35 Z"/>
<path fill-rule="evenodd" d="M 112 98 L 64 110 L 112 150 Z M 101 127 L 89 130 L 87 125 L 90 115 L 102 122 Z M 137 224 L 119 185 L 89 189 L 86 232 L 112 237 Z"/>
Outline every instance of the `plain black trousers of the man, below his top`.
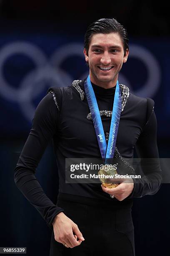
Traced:
<path fill-rule="evenodd" d="M 50 256 L 135 256 L 131 208 L 111 209 L 69 202 L 58 198 L 67 217 L 80 229 L 85 241 L 74 248 L 66 248 L 51 237 Z"/>

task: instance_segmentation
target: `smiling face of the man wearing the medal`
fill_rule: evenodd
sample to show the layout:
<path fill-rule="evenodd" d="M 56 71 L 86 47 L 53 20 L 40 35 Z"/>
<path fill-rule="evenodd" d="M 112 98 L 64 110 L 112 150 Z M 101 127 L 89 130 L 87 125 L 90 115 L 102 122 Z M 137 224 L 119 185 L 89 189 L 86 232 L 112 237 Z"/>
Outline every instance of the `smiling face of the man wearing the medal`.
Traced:
<path fill-rule="evenodd" d="M 123 43 L 118 33 L 94 34 L 91 38 L 88 56 L 84 49 L 85 61 L 90 68 L 90 80 L 104 88 L 116 85 L 122 64 L 128 59 L 124 55 Z"/>

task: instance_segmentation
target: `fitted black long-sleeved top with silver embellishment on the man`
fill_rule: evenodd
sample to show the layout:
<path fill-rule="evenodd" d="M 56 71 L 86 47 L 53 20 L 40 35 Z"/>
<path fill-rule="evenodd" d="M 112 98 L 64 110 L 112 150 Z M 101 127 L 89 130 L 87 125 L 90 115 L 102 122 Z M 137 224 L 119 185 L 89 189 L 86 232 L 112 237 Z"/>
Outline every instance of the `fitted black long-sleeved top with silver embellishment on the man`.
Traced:
<path fill-rule="evenodd" d="M 99 110 L 112 110 L 115 87 L 104 89 L 92 84 Z M 84 82 L 80 83 L 84 90 Z M 160 187 L 160 165 L 151 166 L 157 182 L 150 179 L 135 184 L 132 194 L 123 201 L 112 200 L 102 191 L 100 184 L 65 184 L 65 158 L 100 158 L 100 150 L 92 120 L 87 120 L 90 112 L 87 99 L 80 99 L 80 94 L 73 88 L 52 88 L 56 94 L 60 110 L 57 109 L 52 94 L 47 94 L 37 106 L 28 139 L 15 168 L 15 183 L 30 203 L 40 212 L 52 229 L 52 222 L 64 208 L 54 205 L 45 195 L 35 177 L 37 165 L 47 144 L 53 139 L 53 146 L 59 173 L 61 193 L 79 195 L 105 200 L 108 205 L 132 206 L 133 197 L 152 195 Z M 132 158 L 136 147 L 140 157 L 158 158 L 156 143 L 157 122 L 153 112 L 153 100 L 137 97 L 130 93 L 125 109 L 120 116 L 116 146 L 125 158 Z M 104 132 L 110 131 L 111 118 L 102 116 Z"/>

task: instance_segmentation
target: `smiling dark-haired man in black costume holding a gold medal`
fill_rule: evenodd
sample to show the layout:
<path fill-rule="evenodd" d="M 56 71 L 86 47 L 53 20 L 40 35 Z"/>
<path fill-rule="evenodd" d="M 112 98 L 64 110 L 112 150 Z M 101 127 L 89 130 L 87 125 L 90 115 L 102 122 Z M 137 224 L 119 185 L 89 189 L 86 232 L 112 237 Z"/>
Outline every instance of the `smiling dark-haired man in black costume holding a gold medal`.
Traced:
<path fill-rule="evenodd" d="M 114 157 L 117 154 L 120 159 L 133 158 L 136 148 L 141 158 L 158 158 L 154 102 L 136 97 L 127 86 L 117 82 L 129 54 L 127 32 L 117 20 L 100 19 L 87 28 L 84 54 L 89 77 L 85 81 L 75 80 L 70 87 L 50 88 L 38 105 L 15 169 L 15 183 L 52 228 L 50 256 L 103 253 L 132 256 L 135 255 L 133 197 L 158 191 L 160 165 L 143 170 L 147 179 L 138 183 L 135 179 L 123 180 L 109 189 L 98 183 L 65 183 L 65 159 L 101 158 L 102 152 L 106 153 L 97 135 L 90 93 L 95 94 L 96 113 L 102 121 L 99 126 L 107 144 L 114 137 L 110 136 L 112 111 L 115 106 L 120 110 L 117 112 L 120 121 L 113 124 L 117 133 Z M 45 195 L 34 175 L 51 138 L 59 172 L 57 205 Z"/>

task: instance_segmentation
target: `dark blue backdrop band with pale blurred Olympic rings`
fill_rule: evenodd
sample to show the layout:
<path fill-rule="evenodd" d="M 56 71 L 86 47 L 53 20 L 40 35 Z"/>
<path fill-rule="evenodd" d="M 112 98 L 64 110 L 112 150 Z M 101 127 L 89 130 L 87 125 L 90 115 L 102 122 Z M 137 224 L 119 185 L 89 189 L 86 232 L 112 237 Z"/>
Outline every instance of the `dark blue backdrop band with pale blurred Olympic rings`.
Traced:
<path fill-rule="evenodd" d="M 0 39 L 0 103 L 5 110 L 0 119 L 1 134 L 28 133 L 35 108 L 48 87 L 68 86 L 74 79 L 87 77 L 82 38 L 28 35 Z M 170 123 L 166 123 L 170 114 L 169 43 L 131 39 L 128 62 L 119 76 L 120 83 L 128 85 L 135 95 L 155 100 L 156 115 L 161 120 L 159 137 L 168 135 L 170 129 Z"/>

